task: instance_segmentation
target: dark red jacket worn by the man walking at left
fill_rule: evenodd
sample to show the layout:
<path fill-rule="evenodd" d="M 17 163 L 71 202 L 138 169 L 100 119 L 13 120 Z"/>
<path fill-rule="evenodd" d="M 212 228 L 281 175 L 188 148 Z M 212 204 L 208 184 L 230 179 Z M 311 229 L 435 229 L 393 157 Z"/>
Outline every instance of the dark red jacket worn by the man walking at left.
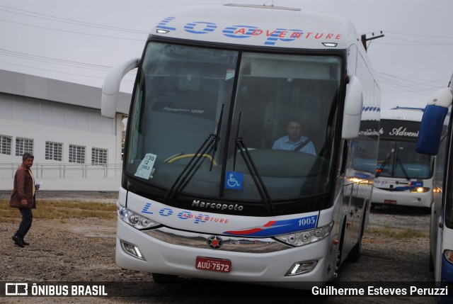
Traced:
<path fill-rule="evenodd" d="M 36 208 L 36 198 L 33 195 L 34 181 L 27 168 L 23 164 L 18 167 L 14 176 L 14 188 L 9 206 L 15 208 Z M 27 205 L 22 206 L 21 199 L 27 199 Z"/>

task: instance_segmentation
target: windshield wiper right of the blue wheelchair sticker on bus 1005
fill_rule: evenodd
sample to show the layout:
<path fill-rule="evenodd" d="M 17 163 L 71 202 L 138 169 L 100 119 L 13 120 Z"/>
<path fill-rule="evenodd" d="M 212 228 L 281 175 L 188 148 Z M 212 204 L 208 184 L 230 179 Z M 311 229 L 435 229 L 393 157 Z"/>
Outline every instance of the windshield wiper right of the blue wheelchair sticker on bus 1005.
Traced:
<path fill-rule="evenodd" d="M 247 169 L 250 172 L 253 181 L 255 182 L 256 188 L 258 189 L 258 193 L 260 193 L 261 199 L 263 200 L 266 209 L 268 212 L 275 213 L 275 206 L 273 201 L 270 199 L 270 195 L 268 193 L 268 189 L 266 188 L 263 179 L 261 179 L 260 174 L 258 173 L 258 169 L 256 169 L 256 165 L 253 162 L 253 159 L 248 152 L 246 145 L 243 142 L 242 137 L 239 137 L 239 124 L 241 123 L 241 112 L 239 112 L 239 122 L 238 128 L 236 132 L 236 137 L 234 140 L 236 141 L 236 147 L 241 152 L 241 156 L 243 161 L 246 163 Z M 233 171 L 236 169 L 236 153 L 234 153 L 234 160 L 233 160 Z"/>

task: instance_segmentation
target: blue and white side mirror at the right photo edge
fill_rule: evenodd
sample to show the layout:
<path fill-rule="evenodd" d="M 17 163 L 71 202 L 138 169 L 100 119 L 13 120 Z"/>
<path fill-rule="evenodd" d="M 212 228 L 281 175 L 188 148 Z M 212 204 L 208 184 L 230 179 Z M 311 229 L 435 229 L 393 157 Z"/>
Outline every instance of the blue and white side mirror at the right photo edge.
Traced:
<path fill-rule="evenodd" d="M 452 101 L 453 89 L 451 88 L 437 91 L 428 101 L 418 131 L 417 147 L 415 148 L 418 153 L 436 155 L 439 152 L 442 128 Z"/>

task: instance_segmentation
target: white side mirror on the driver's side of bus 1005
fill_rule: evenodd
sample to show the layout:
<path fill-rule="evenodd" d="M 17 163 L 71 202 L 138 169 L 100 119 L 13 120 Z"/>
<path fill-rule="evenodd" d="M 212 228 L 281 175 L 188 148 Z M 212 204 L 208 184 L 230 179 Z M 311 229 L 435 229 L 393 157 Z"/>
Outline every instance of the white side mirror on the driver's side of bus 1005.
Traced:
<path fill-rule="evenodd" d="M 346 89 L 345 109 L 343 111 L 343 128 L 341 137 L 345 140 L 359 136 L 362 120 L 363 94 L 362 84 L 354 75 L 350 76 Z"/>

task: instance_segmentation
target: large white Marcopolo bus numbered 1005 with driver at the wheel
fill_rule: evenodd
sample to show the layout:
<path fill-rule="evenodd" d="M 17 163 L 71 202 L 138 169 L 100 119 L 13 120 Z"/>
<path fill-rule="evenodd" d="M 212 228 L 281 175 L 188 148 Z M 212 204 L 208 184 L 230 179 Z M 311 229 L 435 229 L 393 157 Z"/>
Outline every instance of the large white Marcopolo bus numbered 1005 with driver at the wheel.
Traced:
<path fill-rule="evenodd" d="M 141 59 L 103 85 L 103 116 L 115 118 L 120 81 L 138 67 L 117 265 L 156 282 L 308 289 L 357 260 L 380 111 L 360 41 L 346 18 L 278 6 L 187 6 L 163 18 Z M 291 150 L 273 149 L 281 137 Z M 348 182 L 357 157 L 372 162 L 367 183 Z"/>

